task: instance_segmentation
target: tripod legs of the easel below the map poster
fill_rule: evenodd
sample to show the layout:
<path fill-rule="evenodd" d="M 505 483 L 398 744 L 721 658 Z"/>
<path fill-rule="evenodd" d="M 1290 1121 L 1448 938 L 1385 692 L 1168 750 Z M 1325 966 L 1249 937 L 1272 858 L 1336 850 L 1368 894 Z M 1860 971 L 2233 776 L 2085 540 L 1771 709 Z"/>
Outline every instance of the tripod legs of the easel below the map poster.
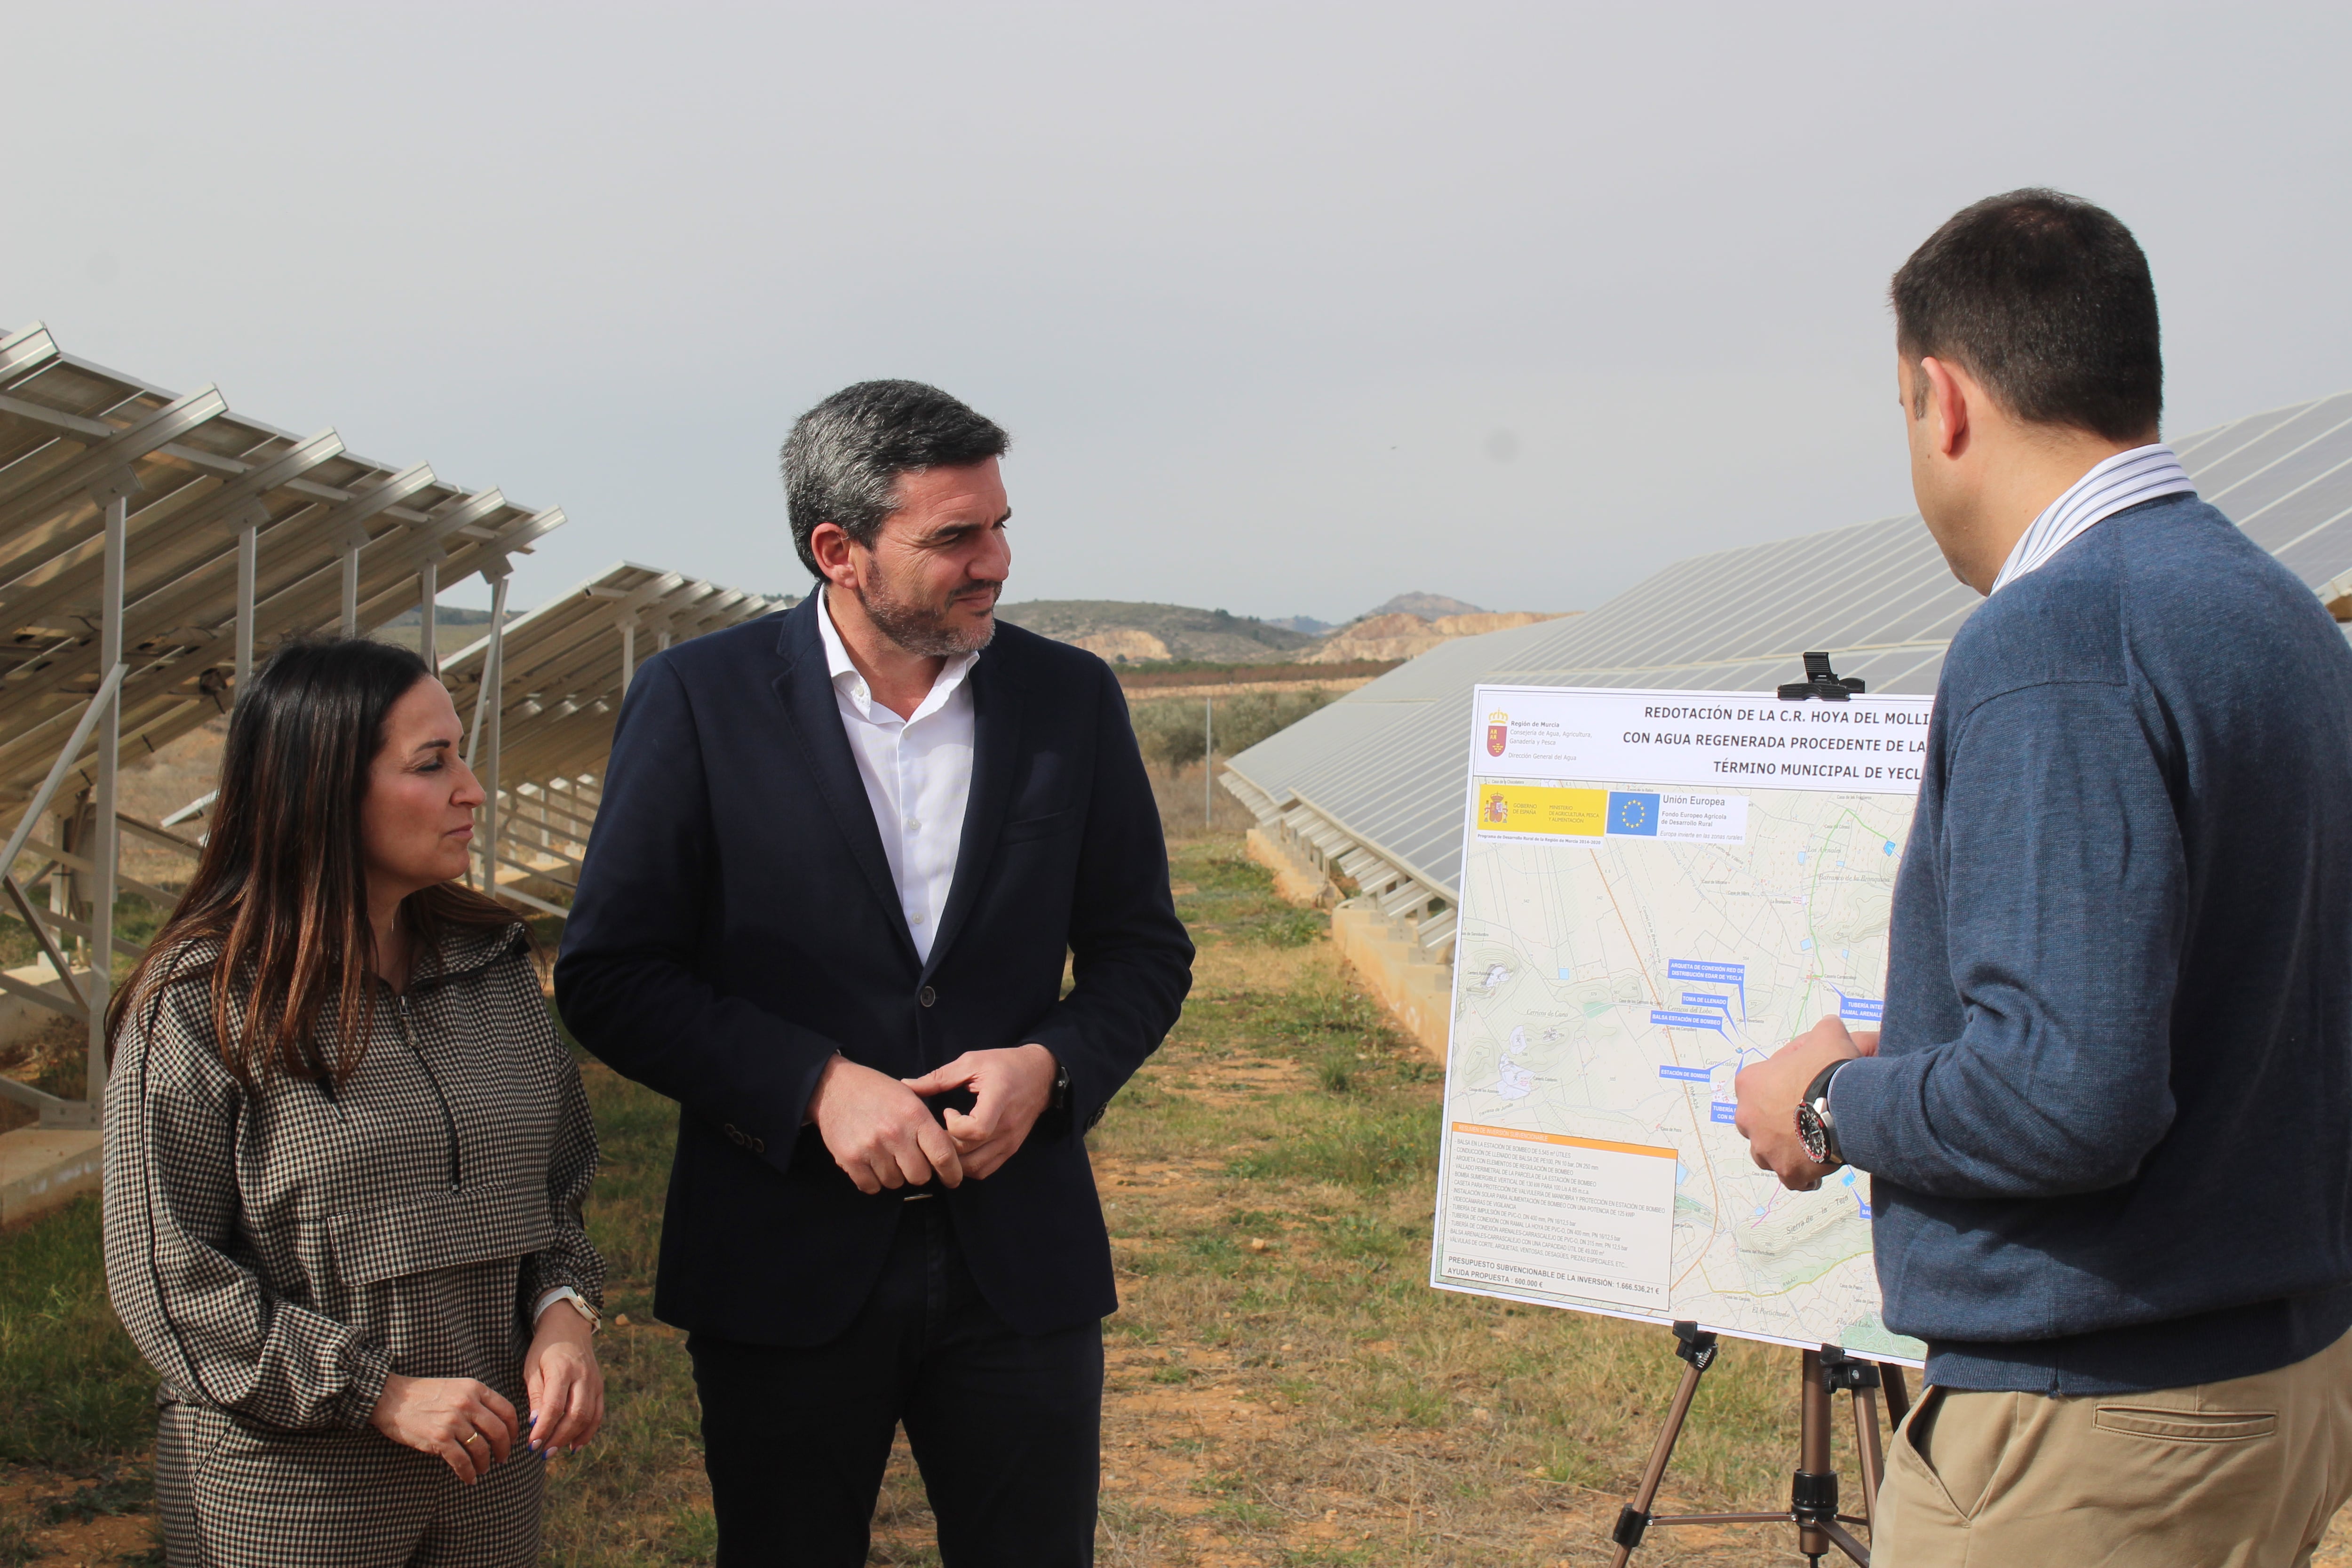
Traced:
<path fill-rule="evenodd" d="M 1658 1483 L 1665 1481 L 1665 1465 L 1675 1458 L 1675 1439 L 1682 1436 L 1682 1422 L 1691 1413 L 1691 1399 L 1698 1394 L 1698 1380 L 1710 1366 L 1715 1366 L 1717 1352 L 1715 1335 L 1698 1324 L 1675 1324 L 1675 1338 L 1682 1340 L 1675 1349 L 1675 1354 L 1684 1361 L 1682 1387 L 1675 1389 L 1675 1403 L 1665 1413 L 1665 1427 L 1658 1432 L 1658 1441 L 1649 1450 L 1649 1467 L 1642 1472 L 1642 1490 L 1635 1493 L 1635 1500 L 1618 1512 L 1616 1530 L 1611 1530 L 1611 1540 L 1618 1552 L 1611 1559 L 1611 1568 L 1625 1568 L 1635 1547 L 1642 1544 L 1644 1530 L 1651 1526 L 1677 1523 L 1792 1523 L 1797 1526 L 1797 1552 L 1813 1559 L 1816 1568 L 1830 1547 L 1837 1547 L 1849 1559 L 1867 1568 L 1870 1547 L 1856 1540 L 1846 1526 L 1858 1523 L 1865 1530 L 1870 1528 L 1879 1495 L 1879 1469 L 1884 1462 L 1884 1453 L 1879 1448 L 1879 1387 L 1884 1385 L 1886 1389 L 1889 1425 L 1900 1427 L 1903 1415 L 1910 1413 L 1910 1389 L 1903 1385 L 1903 1368 L 1849 1356 L 1835 1345 L 1804 1352 L 1797 1479 L 1790 1483 L 1788 1509 L 1778 1514 L 1658 1516 L 1649 1512 L 1649 1505 L 1658 1500 Z M 1830 1462 L 1830 1420 L 1835 1418 L 1832 1406 L 1839 1389 L 1853 1394 L 1853 1434 L 1863 1455 L 1860 1516 L 1837 1512 L 1837 1469 Z"/>

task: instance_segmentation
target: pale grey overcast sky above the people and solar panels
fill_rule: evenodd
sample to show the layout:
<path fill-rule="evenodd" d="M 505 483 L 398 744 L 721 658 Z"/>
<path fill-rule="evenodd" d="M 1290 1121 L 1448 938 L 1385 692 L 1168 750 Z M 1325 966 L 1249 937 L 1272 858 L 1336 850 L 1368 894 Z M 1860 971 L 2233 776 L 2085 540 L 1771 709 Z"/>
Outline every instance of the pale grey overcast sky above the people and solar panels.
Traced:
<path fill-rule="evenodd" d="M 1009 597 L 1581 609 L 1910 510 L 1886 275 L 2112 207 L 2169 430 L 2352 386 L 2352 7 L 14 5 L 0 327 L 790 590 L 868 376 L 1004 423 Z M 447 595 L 487 602 L 480 581 Z"/>

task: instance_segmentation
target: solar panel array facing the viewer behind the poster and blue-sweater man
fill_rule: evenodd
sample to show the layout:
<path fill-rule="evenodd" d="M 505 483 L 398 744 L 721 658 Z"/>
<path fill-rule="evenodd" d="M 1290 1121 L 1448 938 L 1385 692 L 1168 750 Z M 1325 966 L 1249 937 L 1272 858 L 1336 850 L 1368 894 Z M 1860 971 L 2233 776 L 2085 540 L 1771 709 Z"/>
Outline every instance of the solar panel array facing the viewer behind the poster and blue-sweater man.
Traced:
<path fill-rule="evenodd" d="M 2178 437 L 2199 494 L 2352 621 L 2352 393 Z M 1451 642 L 1225 764 L 1261 823 L 1442 950 L 1454 933 L 1470 689 L 1769 691 L 1806 649 L 1870 691 L 1933 693 L 1983 604 L 1919 515 L 1677 562 L 1585 616 Z"/>

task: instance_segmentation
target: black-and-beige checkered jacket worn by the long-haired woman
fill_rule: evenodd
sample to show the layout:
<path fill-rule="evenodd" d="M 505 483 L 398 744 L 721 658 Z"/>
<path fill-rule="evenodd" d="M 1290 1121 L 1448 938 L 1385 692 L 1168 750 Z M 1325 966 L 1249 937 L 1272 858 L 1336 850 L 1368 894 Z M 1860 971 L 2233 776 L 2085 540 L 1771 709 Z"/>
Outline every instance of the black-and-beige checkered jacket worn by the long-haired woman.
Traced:
<path fill-rule="evenodd" d="M 339 1086 L 238 1084 L 209 957 L 151 969 L 106 1088 L 106 1281 L 162 1399 L 355 1429 L 405 1373 L 522 1408 L 532 1307 L 604 1284 L 588 1098 L 522 929 L 445 938 Z"/>

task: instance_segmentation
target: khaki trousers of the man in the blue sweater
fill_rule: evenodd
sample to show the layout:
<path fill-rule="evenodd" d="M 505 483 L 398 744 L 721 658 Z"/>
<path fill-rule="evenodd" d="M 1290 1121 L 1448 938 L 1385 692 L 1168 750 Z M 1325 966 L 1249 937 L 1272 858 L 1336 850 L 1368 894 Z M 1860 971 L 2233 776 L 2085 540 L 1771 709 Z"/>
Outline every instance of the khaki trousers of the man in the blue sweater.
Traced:
<path fill-rule="evenodd" d="M 1896 1434 L 1872 1568 L 2291 1568 L 2352 1493 L 2352 1335 L 2154 1394 L 1929 1389 Z"/>

